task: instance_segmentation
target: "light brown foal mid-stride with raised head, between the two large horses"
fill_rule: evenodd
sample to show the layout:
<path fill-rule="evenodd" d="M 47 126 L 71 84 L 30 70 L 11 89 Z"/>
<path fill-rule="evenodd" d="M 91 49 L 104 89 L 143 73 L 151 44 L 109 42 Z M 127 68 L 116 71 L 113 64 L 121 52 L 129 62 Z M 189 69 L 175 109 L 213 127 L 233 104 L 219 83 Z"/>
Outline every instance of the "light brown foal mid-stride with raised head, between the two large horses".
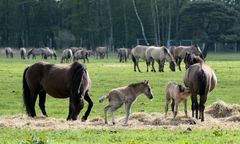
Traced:
<path fill-rule="evenodd" d="M 102 96 L 99 102 L 108 99 L 109 105 L 104 107 L 105 124 L 107 124 L 107 111 L 110 109 L 112 116 L 112 124 L 115 125 L 114 111 L 125 104 L 126 119 L 124 125 L 128 124 L 128 118 L 131 111 L 132 104 L 140 94 L 146 95 L 149 99 L 153 98 L 151 87 L 148 81 L 133 83 L 125 87 L 112 89 L 107 96 Z"/>

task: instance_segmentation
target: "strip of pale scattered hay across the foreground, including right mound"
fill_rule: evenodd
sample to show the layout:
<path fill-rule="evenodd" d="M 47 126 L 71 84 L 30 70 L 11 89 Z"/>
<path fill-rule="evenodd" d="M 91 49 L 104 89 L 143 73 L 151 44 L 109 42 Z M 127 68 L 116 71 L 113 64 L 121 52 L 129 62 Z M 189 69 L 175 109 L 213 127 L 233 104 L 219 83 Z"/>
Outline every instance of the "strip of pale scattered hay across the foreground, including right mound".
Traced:
<path fill-rule="evenodd" d="M 116 125 L 104 124 L 103 118 L 94 118 L 86 122 L 66 121 L 51 117 L 30 118 L 26 115 L 14 115 L 0 117 L 0 128 L 26 128 L 38 130 L 65 130 L 65 129 L 240 129 L 240 105 L 228 105 L 224 102 L 213 103 L 205 112 L 205 121 L 201 122 L 194 118 L 186 118 L 183 113 L 179 113 L 176 119 L 172 119 L 169 113 L 168 118 L 164 118 L 159 113 L 133 113 L 130 115 L 129 125 L 123 126 L 124 117 L 116 120 Z M 190 113 L 190 112 L 189 112 Z M 109 122 L 110 123 L 110 122 Z"/>

